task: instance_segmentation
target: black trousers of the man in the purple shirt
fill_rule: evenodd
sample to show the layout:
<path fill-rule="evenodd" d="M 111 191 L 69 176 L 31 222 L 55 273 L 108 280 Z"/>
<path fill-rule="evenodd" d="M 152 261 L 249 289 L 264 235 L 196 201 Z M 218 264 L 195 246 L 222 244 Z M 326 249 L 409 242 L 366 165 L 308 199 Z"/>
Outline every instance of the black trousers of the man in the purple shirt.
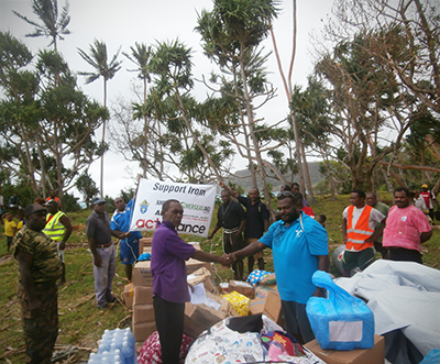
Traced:
<path fill-rule="evenodd" d="M 163 364 L 178 364 L 184 335 L 185 304 L 154 296 L 154 316 L 162 348 Z"/>

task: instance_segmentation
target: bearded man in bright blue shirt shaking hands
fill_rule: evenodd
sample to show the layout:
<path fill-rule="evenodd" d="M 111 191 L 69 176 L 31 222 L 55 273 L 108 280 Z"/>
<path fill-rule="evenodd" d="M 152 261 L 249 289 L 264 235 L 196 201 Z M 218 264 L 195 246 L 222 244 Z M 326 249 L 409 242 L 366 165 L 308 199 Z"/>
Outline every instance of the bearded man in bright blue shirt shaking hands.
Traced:
<path fill-rule="evenodd" d="M 271 247 L 286 331 L 300 343 L 314 340 L 306 304 L 311 296 L 323 297 L 311 276 L 316 271 L 328 272 L 329 247 L 327 231 L 319 222 L 296 208 L 297 199 L 290 191 L 279 192 L 278 210 L 280 220 L 274 222 L 267 232 L 245 249 L 231 254 L 234 257 L 255 254 Z"/>

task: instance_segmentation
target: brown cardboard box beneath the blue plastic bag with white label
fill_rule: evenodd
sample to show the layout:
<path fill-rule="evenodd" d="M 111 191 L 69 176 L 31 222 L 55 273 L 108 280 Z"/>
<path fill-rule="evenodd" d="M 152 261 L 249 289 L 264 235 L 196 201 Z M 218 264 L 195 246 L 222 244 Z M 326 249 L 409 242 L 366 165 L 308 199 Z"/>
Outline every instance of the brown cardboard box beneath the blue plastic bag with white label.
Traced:
<path fill-rule="evenodd" d="M 316 340 L 308 342 L 305 346 L 327 364 L 384 364 L 385 362 L 385 339 L 381 335 L 374 335 L 372 349 L 323 350 Z"/>

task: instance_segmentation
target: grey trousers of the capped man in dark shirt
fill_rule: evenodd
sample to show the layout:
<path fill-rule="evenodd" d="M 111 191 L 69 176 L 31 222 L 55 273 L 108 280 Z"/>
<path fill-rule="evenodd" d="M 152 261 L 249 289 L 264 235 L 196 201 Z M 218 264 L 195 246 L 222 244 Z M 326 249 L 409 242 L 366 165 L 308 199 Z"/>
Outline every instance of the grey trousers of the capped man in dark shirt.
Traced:
<path fill-rule="evenodd" d="M 94 264 L 95 296 L 98 307 L 101 307 L 113 298 L 111 288 L 117 272 L 114 244 L 109 247 L 98 247 L 97 252 L 102 260 L 102 264 L 100 267 Z"/>

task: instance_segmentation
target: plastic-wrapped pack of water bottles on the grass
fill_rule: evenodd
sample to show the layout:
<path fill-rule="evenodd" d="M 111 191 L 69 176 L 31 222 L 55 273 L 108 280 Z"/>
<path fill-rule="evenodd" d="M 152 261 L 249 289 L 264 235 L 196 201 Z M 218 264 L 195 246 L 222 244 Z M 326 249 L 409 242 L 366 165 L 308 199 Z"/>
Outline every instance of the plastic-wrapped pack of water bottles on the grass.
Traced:
<path fill-rule="evenodd" d="M 98 353 L 91 353 L 88 364 L 138 364 L 134 335 L 130 328 L 106 330 Z"/>

